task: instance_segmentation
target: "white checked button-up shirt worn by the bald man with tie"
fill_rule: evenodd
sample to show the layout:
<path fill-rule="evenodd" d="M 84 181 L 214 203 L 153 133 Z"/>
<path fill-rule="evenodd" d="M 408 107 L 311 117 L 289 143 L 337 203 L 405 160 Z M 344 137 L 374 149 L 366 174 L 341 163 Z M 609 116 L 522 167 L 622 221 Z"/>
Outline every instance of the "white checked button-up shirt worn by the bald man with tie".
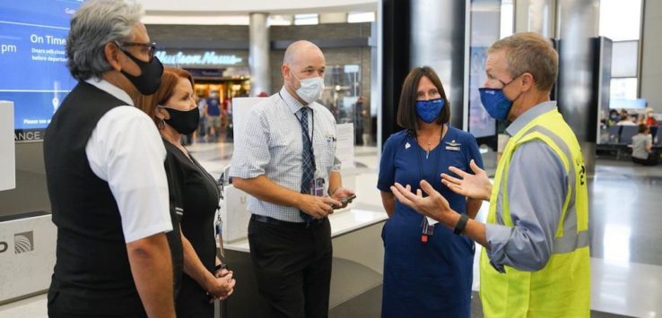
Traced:
<path fill-rule="evenodd" d="M 283 89 L 260 101 L 244 124 L 242 144 L 234 145 L 230 176 L 250 179 L 265 175 L 274 183 L 293 191 L 301 191 L 301 103 Z M 309 132 L 313 139 L 316 175 L 324 178 L 328 191 L 328 176 L 340 171 L 335 157 L 335 117 L 317 102 L 308 105 Z M 314 129 L 313 129 L 314 126 Z M 288 222 L 303 222 L 299 210 L 248 197 L 248 211 Z"/>

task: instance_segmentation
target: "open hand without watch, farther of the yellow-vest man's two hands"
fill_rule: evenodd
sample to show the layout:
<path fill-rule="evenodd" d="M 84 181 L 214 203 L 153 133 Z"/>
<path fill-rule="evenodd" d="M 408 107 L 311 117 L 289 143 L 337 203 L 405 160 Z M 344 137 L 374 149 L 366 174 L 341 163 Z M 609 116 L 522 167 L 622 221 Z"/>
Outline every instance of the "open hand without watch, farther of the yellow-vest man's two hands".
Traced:
<path fill-rule="evenodd" d="M 455 173 L 460 178 L 441 174 L 441 183 L 448 186 L 454 193 L 464 195 L 471 199 L 480 199 L 490 201 L 490 194 L 492 193 L 492 184 L 487 177 L 485 170 L 478 167 L 474 160 L 469 164 L 471 170 L 475 175 L 466 173 L 455 167 L 449 167 L 450 172 Z"/>

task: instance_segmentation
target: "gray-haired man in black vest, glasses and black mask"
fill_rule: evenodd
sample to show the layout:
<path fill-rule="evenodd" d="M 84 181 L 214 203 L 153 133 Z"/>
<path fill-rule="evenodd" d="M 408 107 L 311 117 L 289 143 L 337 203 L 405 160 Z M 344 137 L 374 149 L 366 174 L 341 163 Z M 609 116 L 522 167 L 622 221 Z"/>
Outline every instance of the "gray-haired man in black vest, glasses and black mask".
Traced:
<path fill-rule="evenodd" d="M 163 71 L 142 15 L 138 4 L 91 0 L 71 20 L 66 53 L 79 82 L 44 141 L 57 226 L 50 317 L 175 316 L 182 252 L 166 151 L 133 107 Z"/>

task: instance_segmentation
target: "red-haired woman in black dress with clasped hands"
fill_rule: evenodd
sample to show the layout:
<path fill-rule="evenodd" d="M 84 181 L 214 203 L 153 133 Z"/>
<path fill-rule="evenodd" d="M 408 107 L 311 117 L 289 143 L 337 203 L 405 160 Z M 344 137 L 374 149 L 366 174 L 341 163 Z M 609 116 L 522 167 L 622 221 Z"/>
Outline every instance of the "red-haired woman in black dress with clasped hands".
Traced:
<path fill-rule="evenodd" d="M 175 299 L 178 317 L 213 317 L 213 298 L 233 291 L 232 272 L 216 257 L 213 221 L 220 193 L 209 175 L 180 142 L 200 121 L 191 74 L 167 67 L 161 87 L 137 106 L 151 116 L 165 144 L 170 204 L 181 215 L 184 275 Z"/>

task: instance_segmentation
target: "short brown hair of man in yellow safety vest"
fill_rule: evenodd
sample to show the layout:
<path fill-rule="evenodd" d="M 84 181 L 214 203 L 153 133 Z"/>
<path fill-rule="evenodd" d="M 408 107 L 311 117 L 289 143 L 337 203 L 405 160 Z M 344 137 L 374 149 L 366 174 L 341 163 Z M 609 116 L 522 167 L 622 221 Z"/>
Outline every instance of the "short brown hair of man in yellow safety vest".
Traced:
<path fill-rule="evenodd" d="M 522 32 L 500 39 L 487 53 L 503 50 L 511 78 L 531 73 L 538 90 L 552 90 L 559 74 L 559 54 L 552 43 L 534 32 Z"/>

